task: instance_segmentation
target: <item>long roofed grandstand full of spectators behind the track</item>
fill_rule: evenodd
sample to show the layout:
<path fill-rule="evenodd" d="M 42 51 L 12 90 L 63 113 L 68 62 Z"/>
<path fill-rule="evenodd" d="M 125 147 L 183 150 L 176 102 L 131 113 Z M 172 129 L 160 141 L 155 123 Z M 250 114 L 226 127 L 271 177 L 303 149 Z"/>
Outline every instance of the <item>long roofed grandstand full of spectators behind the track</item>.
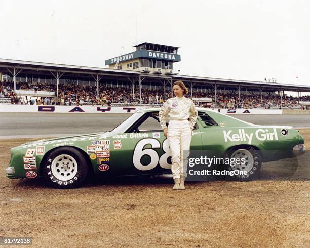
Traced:
<path fill-rule="evenodd" d="M 309 96 L 299 96 L 310 92 L 309 86 L 187 76 L 171 70 L 145 72 L 143 68 L 0 59 L 0 78 L 0 104 L 160 106 L 172 96 L 173 82 L 182 80 L 189 89 L 188 97 L 205 107 L 307 109 L 310 105 Z M 299 97 L 287 96 L 285 91 L 298 92 Z"/>

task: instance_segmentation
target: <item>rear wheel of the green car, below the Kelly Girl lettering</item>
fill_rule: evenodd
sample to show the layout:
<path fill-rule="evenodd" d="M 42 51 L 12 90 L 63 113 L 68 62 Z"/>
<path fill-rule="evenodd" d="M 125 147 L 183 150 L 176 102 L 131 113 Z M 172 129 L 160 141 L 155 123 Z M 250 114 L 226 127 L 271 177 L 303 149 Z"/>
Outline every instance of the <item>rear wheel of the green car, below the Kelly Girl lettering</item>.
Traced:
<path fill-rule="evenodd" d="M 226 164 L 225 169 L 231 174 L 238 170 L 239 173 L 234 173 L 234 175 L 226 175 L 226 180 L 233 181 L 251 181 L 258 177 L 259 171 L 262 164 L 262 156 L 259 150 L 256 150 L 253 146 L 238 147 L 228 150 L 226 152 L 226 157 L 231 161 L 231 158 L 244 158 L 242 164 Z M 241 171 L 247 171 L 247 174 L 240 173 Z"/>

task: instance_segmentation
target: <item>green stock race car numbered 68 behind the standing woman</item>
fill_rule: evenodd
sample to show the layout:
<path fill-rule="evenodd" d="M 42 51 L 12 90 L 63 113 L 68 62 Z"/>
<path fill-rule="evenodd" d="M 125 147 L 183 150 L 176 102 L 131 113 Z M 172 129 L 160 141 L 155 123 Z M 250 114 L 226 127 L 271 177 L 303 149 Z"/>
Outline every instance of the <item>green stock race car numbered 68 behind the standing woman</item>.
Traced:
<path fill-rule="evenodd" d="M 159 108 L 139 110 L 112 131 L 22 144 L 11 149 L 8 178 L 42 176 L 56 188 L 79 186 L 93 171 L 99 177 L 171 173 L 171 151 L 161 129 Z M 197 108 L 191 151 L 239 157 L 246 171 L 236 180 L 257 177 L 262 162 L 304 152 L 304 140 L 292 127 L 258 126 L 214 110 Z M 168 126 L 168 123 L 167 123 Z"/>

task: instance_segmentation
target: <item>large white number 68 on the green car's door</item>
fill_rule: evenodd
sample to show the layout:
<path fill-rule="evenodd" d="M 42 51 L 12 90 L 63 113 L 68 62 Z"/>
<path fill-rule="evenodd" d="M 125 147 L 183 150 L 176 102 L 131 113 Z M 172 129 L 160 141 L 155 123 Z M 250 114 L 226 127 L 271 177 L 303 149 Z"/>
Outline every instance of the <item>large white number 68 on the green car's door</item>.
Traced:
<path fill-rule="evenodd" d="M 151 148 L 143 149 L 145 145 L 151 145 Z M 167 159 L 171 156 L 171 150 L 169 148 L 168 140 L 164 140 L 163 142 L 163 151 L 164 154 L 159 158 L 158 153 L 154 150 L 154 148 L 160 148 L 161 143 L 157 139 L 147 138 L 140 140 L 134 150 L 133 153 L 133 164 L 134 166 L 141 171 L 148 171 L 154 169 L 157 164 L 160 164 L 160 167 L 164 169 L 170 169 L 171 164 L 168 163 Z M 148 155 L 151 159 L 149 164 L 143 165 L 141 163 L 141 158 L 144 155 Z"/>

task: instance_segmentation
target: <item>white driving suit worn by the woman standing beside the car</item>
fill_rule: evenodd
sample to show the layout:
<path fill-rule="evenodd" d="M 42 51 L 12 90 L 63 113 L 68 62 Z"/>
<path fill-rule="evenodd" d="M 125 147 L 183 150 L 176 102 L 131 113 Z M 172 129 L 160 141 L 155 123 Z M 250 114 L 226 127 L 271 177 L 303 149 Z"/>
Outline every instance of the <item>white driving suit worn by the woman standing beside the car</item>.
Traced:
<path fill-rule="evenodd" d="M 168 99 L 159 112 L 163 130 L 167 129 L 166 117 L 169 119 L 168 142 L 171 150 L 173 179 L 187 176 L 190 141 L 197 116 L 195 104 L 186 97 Z"/>

